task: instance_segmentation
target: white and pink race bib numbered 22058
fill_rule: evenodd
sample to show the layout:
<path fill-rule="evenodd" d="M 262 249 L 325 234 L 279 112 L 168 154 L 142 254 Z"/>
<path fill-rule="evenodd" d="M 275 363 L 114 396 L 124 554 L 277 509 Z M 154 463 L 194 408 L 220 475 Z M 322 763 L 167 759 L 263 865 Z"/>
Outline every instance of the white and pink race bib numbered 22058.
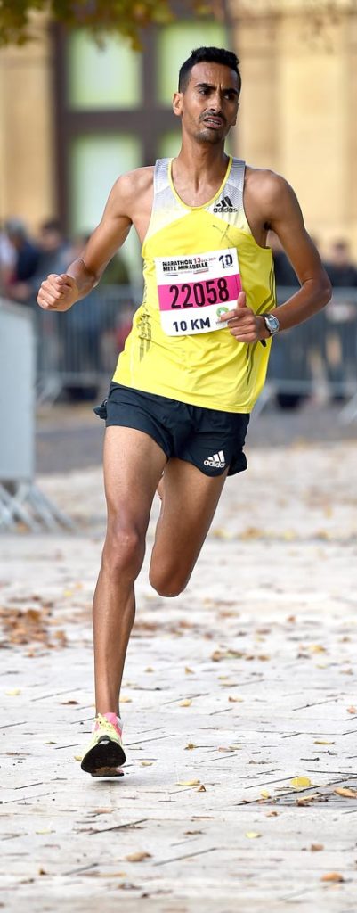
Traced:
<path fill-rule="evenodd" d="M 223 330 L 219 317 L 241 291 L 235 247 L 187 257 L 155 257 L 161 326 L 168 336 Z"/>

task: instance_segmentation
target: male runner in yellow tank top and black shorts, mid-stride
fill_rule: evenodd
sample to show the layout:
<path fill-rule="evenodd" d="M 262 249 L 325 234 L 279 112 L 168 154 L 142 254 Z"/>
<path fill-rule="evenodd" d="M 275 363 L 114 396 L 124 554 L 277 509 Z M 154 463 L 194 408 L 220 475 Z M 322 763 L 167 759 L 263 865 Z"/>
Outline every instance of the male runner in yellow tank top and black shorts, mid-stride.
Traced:
<path fill-rule="evenodd" d="M 97 776 L 118 774 L 126 760 L 118 694 L 162 474 L 149 579 L 174 596 L 189 581 L 227 475 L 247 466 L 242 447 L 271 336 L 311 317 L 331 295 L 289 184 L 224 151 L 239 108 L 238 64 L 216 47 L 192 52 L 173 99 L 182 125 L 178 157 L 119 177 L 83 257 L 66 275 L 48 276 L 37 298 L 45 310 L 71 308 L 135 226 L 144 299 L 98 410 L 107 419 L 107 538 L 93 609 L 97 717 L 82 761 Z M 270 228 L 301 283 L 279 311 Z"/>

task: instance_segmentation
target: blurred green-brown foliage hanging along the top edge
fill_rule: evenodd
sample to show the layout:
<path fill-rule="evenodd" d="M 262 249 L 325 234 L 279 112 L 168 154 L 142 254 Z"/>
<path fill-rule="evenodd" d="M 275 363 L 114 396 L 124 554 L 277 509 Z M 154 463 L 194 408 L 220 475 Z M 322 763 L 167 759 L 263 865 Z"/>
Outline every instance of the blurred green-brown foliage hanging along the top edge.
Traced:
<path fill-rule="evenodd" d="M 211 16 L 220 3 L 186 0 L 182 6 L 188 13 Z M 175 18 L 171 0 L 0 0 L 0 45 L 24 44 L 35 11 L 67 28 L 83 26 L 98 41 L 117 32 L 138 49 L 143 28 Z"/>

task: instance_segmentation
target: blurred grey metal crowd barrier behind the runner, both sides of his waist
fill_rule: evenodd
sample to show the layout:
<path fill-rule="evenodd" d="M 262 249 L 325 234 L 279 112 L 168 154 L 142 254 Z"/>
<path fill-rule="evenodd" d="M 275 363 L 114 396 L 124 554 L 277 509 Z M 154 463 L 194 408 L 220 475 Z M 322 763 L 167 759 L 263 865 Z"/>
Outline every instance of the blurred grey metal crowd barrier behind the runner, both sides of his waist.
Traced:
<path fill-rule="evenodd" d="M 278 302 L 294 291 L 279 288 Z M 55 401 L 64 392 L 91 398 L 107 389 L 141 296 L 139 287 L 102 285 L 66 313 L 36 307 L 39 402 Z M 349 400 L 348 415 L 354 417 L 356 363 L 357 289 L 335 289 L 326 308 L 274 339 L 259 408 L 272 393 L 281 405 L 292 406 L 322 390 L 326 397 Z"/>

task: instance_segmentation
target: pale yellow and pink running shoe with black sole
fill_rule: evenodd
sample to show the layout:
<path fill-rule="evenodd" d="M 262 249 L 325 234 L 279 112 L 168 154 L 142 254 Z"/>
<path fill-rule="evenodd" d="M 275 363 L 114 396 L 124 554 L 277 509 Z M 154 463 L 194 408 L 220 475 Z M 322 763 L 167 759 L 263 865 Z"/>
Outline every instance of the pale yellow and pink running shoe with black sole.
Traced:
<path fill-rule="evenodd" d="M 121 740 L 121 721 L 114 713 L 97 714 L 93 737 L 82 758 L 82 771 L 92 777 L 122 777 L 126 756 Z"/>

